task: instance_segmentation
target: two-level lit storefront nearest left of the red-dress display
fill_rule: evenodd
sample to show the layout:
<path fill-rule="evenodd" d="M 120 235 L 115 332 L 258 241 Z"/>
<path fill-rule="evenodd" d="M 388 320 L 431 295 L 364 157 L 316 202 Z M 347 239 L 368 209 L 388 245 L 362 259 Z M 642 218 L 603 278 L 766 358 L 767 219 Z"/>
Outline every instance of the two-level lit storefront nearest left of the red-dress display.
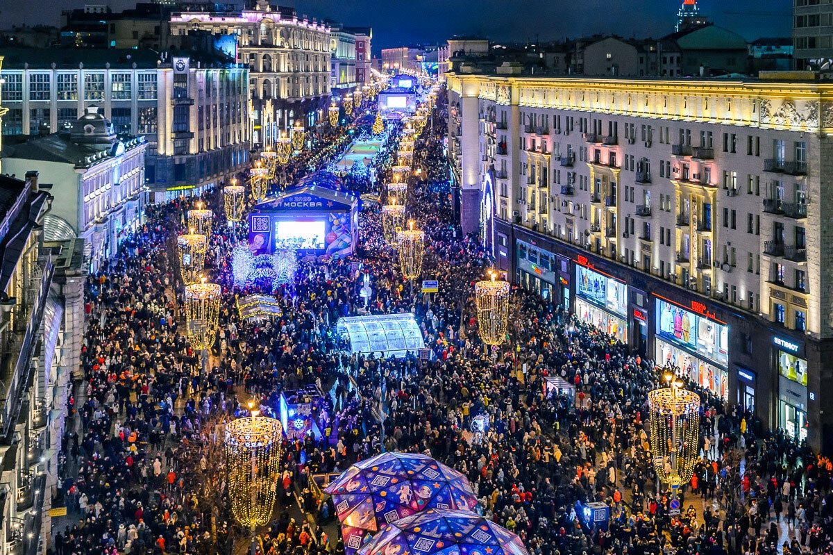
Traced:
<path fill-rule="evenodd" d="M 627 343 L 627 286 L 576 263 L 576 316 Z"/>

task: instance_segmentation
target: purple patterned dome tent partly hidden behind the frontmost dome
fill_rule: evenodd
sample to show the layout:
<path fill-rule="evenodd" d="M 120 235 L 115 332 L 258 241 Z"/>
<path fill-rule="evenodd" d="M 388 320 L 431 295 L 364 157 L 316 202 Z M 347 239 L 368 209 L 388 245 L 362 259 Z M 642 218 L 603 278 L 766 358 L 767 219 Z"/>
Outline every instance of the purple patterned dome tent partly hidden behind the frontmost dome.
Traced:
<path fill-rule="evenodd" d="M 332 494 L 350 554 L 362 547 L 367 535 L 422 511 L 450 507 L 476 517 L 470 511 L 477 507 L 477 498 L 468 479 L 419 453 L 368 458 L 347 468 L 325 491 Z"/>

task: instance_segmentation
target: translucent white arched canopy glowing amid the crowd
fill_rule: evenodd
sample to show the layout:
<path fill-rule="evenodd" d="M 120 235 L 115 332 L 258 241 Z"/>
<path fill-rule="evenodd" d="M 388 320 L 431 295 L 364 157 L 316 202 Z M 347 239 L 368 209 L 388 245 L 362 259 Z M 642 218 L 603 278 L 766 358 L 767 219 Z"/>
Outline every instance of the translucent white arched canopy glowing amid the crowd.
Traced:
<path fill-rule="evenodd" d="M 339 318 L 337 333 L 350 342 L 351 353 L 384 353 L 386 357 L 416 355 L 425 348 L 412 313 Z"/>

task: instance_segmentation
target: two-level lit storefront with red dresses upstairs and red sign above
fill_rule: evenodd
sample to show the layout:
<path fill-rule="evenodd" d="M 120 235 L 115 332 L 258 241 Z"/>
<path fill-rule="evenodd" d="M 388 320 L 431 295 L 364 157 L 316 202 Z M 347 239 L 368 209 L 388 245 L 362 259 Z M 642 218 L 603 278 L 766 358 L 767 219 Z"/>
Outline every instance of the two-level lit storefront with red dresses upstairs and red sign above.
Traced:
<path fill-rule="evenodd" d="M 729 326 L 692 304 L 699 313 L 656 296 L 656 363 L 728 400 Z"/>

